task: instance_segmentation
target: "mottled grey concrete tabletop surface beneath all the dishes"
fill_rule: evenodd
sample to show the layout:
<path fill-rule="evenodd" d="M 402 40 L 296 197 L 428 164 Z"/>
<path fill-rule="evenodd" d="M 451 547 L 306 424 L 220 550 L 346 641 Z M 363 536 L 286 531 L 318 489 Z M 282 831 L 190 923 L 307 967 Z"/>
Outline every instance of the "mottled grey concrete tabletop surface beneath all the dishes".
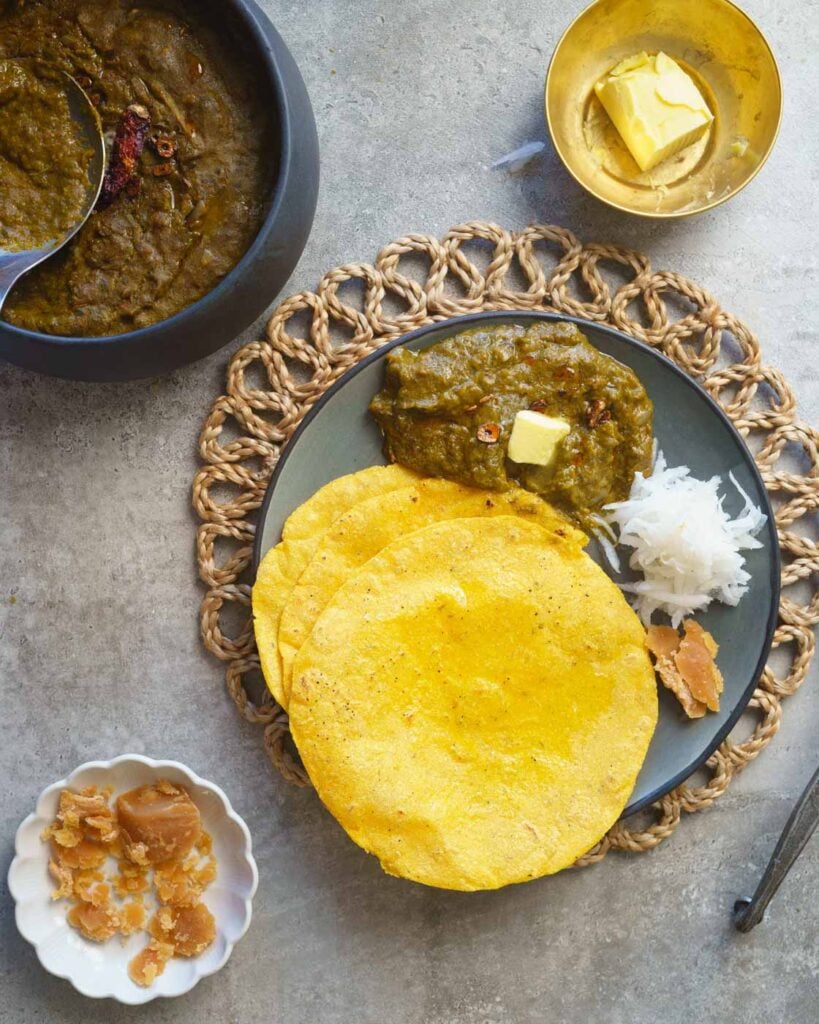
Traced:
<path fill-rule="evenodd" d="M 470 218 L 561 223 L 646 250 L 759 332 L 817 422 L 816 3 L 746 0 L 779 58 L 778 145 L 729 205 L 678 223 L 585 196 L 550 150 L 519 177 L 497 157 L 546 138 L 542 86 L 577 0 L 267 0 L 315 106 L 322 185 L 289 283 Z M 272 296 L 271 296 L 272 299 Z M 142 1010 L 46 975 L 0 898 L 0 1021 L 167 1024 L 813 1024 L 819 837 L 766 922 L 729 924 L 816 764 L 816 672 L 773 745 L 714 808 L 639 857 L 460 895 L 384 877 L 274 777 L 197 632 L 189 484 L 229 346 L 155 381 L 84 386 L 0 366 L 0 866 L 40 790 L 89 758 L 173 757 L 250 824 L 261 884 L 218 976 Z"/>

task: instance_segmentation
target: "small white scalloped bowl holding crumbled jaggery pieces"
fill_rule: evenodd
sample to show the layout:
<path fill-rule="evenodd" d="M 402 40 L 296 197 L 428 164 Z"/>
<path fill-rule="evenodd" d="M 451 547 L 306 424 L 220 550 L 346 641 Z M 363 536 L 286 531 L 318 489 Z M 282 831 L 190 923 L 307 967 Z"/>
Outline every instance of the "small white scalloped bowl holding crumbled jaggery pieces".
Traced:
<path fill-rule="evenodd" d="M 216 939 L 201 956 L 174 957 L 149 988 L 140 988 L 128 977 L 128 962 L 145 945 L 147 937 L 142 933 L 99 944 L 89 942 L 71 928 L 66 921 L 68 903 L 51 899 L 48 845 L 41 841 L 40 834 L 53 820 L 59 792 L 67 786 L 111 785 L 116 797 L 157 778 L 185 786 L 202 814 L 203 827 L 213 837 L 217 874 L 205 891 L 203 902 L 216 921 Z M 259 882 L 248 826 L 219 786 L 200 778 L 178 761 L 154 761 L 138 754 L 125 754 L 113 761 L 89 761 L 68 778 L 49 785 L 40 795 L 35 813 L 17 829 L 14 852 L 8 888 L 16 904 L 17 928 L 34 946 L 46 971 L 66 978 L 83 995 L 129 1005 L 148 1002 L 160 995 L 182 995 L 201 978 L 223 967 L 248 930 L 251 902 Z"/>

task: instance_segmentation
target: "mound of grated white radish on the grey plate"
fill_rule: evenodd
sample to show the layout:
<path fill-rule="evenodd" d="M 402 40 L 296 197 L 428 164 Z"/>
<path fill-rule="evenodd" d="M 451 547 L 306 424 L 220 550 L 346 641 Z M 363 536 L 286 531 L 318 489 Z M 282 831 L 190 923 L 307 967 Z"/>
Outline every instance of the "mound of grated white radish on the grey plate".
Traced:
<path fill-rule="evenodd" d="M 750 575 L 740 552 L 762 547 L 755 535 L 767 516 L 728 475 L 745 502 L 735 519 L 723 508 L 719 476 L 696 480 L 687 466 L 670 469 L 661 452 L 650 476 L 635 476 L 628 501 L 606 505 L 617 544 L 634 549 L 629 565 L 643 573 L 642 581 L 620 588 L 634 595 L 646 625 L 663 611 L 679 626 L 712 601 L 736 605 L 747 590 Z M 601 546 L 608 556 L 609 545 Z M 616 553 L 609 561 L 619 568 Z"/>

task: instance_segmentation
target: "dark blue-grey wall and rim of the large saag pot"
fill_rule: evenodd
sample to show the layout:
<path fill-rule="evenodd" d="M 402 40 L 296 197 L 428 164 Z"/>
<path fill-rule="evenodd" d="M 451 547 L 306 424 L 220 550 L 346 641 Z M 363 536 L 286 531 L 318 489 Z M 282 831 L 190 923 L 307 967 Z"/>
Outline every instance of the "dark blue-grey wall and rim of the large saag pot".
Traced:
<path fill-rule="evenodd" d="M 259 89 L 269 93 L 278 132 L 278 173 L 250 249 L 213 291 L 168 319 L 127 334 L 66 338 L 0 319 L 0 357 L 83 381 L 155 377 L 201 359 L 249 327 L 270 304 L 304 250 L 318 196 L 318 139 L 310 99 L 282 37 L 254 0 L 202 0 L 226 31 L 255 51 Z"/>

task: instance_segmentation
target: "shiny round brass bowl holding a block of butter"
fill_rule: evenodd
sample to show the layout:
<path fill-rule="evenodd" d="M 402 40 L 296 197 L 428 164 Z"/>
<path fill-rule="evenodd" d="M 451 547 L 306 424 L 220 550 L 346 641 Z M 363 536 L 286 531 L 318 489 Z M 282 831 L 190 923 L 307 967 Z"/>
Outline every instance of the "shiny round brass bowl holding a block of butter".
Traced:
<path fill-rule="evenodd" d="M 715 114 L 707 133 L 642 172 L 595 95 L 623 57 L 663 50 Z M 596 0 L 563 34 L 546 77 L 546 120 L 569 173 L 609 206 L 685 217 L 740 191 L 768 158 L 782 112 L 765 37 L 728 0 Z"/>

